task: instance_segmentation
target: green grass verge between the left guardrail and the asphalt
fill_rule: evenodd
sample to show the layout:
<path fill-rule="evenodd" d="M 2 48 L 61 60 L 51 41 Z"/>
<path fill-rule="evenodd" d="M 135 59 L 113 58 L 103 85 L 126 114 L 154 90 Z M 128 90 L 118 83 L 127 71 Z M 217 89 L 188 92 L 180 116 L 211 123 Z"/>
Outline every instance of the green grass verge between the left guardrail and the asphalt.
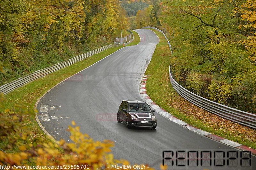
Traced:
<path fill-rule="evenodd" d="M 136 45 L 140 42 L 139 35 L 135 31 L 132 31 L 132 32 L 134 35 L 134 40 L 131 44 L 129 44 L 127 46 Z M 76 74 L 77 72 L 92 65 L 93 63 L 114 53 L 116 50 L 118 50 L 120 48 L 123 48 L 123 46 L 109 48 L 99 54 L 94 54 L 91 57 L 85 58 L 84 60 L 76 62 L 75 64 L 73 64 L 71 66 L 65 67 L 59 71 L 48 74 L 42 78 L 32 81 L 32 82 L 28 83 L 27 85 L 22 86 L 16 90 L 12 91 L 11 93 L 4 96 L 5 100 L 1 103 L 4 105 L 4 107 L 0 108 L 0 111 L 4 111 L 5 109 L 12 108 L 12 106 L 14 106 L 15 104 L 18 104 L 20 106 L 25 106 L 29 110 L 33 110 L 36 101 L 41 96 L 43 96 L 46 91 L 51 89 L 53 86 L 58 84 L 60 81 L 68 78 L 69 76 L 71 76 L 73 74 Z M 30 116 L 24 117 L 22 124 L 24 126 L 23 129 L 32 131 L 34 133 L 34 135 L 31 138 L 41 137 L 44 140 L 49 140 L 49 139 L 45 138 L 46 135 L 40 129 L 40 127 L 37 124 L 34 117 L 32 119 Z M 6 144 L 0 142 L 0 147 L 1 147 L 1 145 L 6 145 Z M 8 151 L 8 152 L 15 152 L 15 150 Z"/>

